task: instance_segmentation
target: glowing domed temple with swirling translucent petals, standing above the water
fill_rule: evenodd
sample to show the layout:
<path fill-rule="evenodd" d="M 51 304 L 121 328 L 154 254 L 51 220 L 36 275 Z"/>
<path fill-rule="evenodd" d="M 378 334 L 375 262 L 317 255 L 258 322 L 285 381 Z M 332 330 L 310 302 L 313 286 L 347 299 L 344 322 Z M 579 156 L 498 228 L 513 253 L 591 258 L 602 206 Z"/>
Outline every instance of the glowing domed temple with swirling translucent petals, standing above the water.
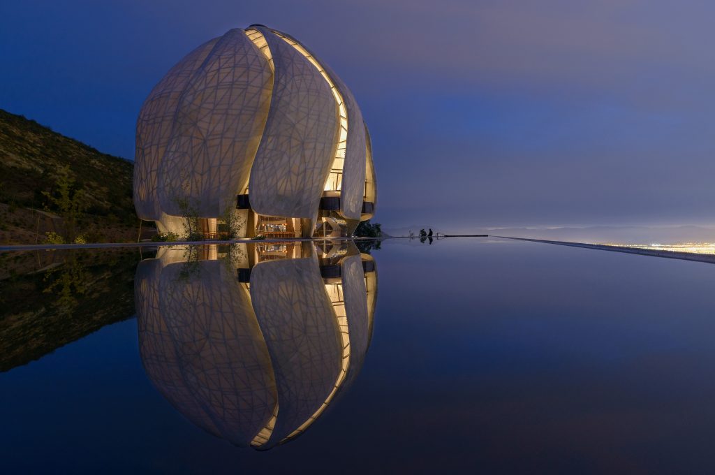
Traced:
<path fill-rule="evenodd" d="M 179 61 L 137 119 L 134 204 L 160 232 L 192 210 L 215 237 L 350 236 L 375 211 L 370 135 L 350 89 L 292 36 L 232 29 Z"/>

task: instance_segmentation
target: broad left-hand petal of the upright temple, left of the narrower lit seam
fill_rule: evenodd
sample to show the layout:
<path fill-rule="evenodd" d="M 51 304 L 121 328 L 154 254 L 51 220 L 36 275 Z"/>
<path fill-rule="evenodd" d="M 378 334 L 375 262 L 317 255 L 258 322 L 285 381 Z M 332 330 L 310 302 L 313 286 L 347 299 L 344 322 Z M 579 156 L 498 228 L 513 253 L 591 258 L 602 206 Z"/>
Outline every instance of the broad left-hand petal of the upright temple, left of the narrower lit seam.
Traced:
<path fill-rule="evenodd" d="M 241 29 L 221 37 L 179 101 L 159 166 L 159 202 L 179 215 L 186 199 L 201 217 L 235 207 L 246 187 L 270 105 L 273 74 Z"/>

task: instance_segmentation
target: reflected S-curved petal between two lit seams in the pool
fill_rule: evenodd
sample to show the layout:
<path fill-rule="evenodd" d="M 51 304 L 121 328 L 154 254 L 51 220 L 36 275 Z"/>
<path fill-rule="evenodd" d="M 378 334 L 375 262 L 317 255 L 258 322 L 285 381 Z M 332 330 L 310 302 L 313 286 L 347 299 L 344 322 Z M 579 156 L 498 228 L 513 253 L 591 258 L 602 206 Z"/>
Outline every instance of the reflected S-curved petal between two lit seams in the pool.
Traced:
<path fill-rule="evenodd" d="M 312 258 L 260 263 L 251 298 L 271 356 L 280 410 L 265 448 L 309 421 L 340 373 L 342 345 L 320 268 Z"/>

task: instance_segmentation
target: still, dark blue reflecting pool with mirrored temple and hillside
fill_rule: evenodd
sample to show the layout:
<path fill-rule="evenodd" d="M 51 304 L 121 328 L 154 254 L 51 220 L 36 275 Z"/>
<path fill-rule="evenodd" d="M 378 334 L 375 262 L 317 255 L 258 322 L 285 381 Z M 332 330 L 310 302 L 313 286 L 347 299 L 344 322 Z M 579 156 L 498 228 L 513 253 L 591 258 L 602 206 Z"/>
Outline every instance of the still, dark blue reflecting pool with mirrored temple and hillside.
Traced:
<path fill-rule="evenodd" d="M 0 255 L 0 472 L 715 469 L 714 265 L 143 252 Z"/>

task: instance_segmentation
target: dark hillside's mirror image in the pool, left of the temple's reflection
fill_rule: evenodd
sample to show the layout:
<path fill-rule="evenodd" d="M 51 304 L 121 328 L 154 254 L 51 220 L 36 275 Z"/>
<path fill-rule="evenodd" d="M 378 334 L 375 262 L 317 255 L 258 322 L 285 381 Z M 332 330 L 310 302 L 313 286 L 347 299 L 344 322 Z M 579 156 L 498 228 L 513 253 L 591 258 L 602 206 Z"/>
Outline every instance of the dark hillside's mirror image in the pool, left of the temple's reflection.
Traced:
<path fill-rule="evenodd" d="M 0 371 L 134 315 L 137 250 L 0 255 Z"/>

